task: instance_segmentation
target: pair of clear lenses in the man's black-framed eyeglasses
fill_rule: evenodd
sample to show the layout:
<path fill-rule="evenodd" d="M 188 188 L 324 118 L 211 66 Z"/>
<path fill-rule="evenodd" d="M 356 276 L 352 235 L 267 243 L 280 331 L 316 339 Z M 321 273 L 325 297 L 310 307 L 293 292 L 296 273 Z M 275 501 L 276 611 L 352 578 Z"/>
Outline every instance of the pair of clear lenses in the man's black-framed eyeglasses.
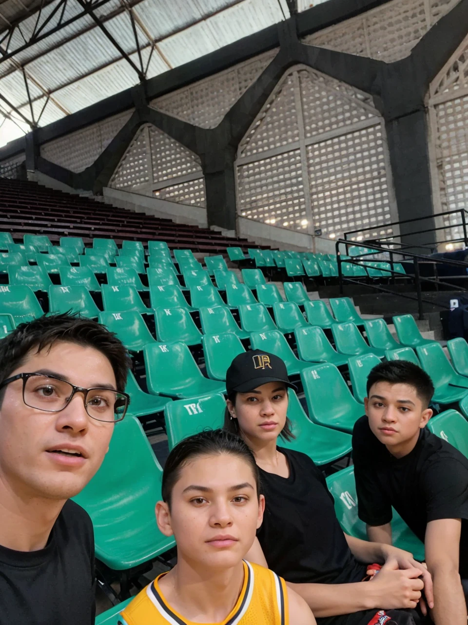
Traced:
<path fill-rule="evenodd" d="M 44 411 L 62 410 L 69 401 L 73 387 L 64 380 L 48 376 L 31 376 L 24 385 L 24 402 Z M 126 398 L 110 389 L 91 389 L 85 408 L 90 417 L 99 421 L 118 421 L 125 414 Z"/>

